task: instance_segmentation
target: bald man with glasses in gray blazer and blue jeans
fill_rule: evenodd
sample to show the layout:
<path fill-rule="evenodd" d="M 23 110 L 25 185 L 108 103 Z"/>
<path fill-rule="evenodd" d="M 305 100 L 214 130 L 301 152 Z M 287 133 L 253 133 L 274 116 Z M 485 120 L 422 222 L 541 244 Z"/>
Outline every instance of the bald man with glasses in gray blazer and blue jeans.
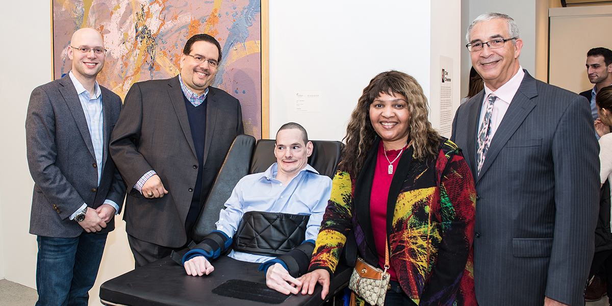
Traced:
<path fill-rule="evenodd" d="M 26 117 L 37 235 L 36 305 L 88 305 L 125 185 L 108 155 L 121 98 L 96 81 L 106 50 L 94 29 L 76 31 L 72 70 L 32 91 Z"/>

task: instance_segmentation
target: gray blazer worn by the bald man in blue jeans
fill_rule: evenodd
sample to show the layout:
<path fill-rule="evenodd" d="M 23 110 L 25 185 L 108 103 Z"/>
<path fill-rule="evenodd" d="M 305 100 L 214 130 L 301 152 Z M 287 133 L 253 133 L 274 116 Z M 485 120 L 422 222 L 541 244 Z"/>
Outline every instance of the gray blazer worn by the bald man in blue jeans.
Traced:
<path fill-rule="evenodd" d="M 75 86 L 69 75 L 32 91 L 26 117 L 28 165 L 34 179 L 30 233 L 76 237 L 84 230 L 69 217 L 83 203 L 97 208 L 106 199 L 119 209 L 125 185 L 108 155 L 108 143 L 121 111 L 121 98 L 102 91 L 104 155 L 100 185 L 94 146 Z M 114 218 L 97 233 L 114 229 Z"/>

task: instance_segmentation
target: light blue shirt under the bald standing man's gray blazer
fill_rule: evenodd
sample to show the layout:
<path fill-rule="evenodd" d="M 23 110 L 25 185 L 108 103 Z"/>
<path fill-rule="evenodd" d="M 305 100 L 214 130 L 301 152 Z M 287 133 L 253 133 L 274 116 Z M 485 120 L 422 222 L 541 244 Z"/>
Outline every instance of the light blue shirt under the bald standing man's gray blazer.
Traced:
<path fill-rule="evenodd" d="M 98 185 L 100 185 L 100 179 L 102 179 L 102 166 L 104 156 L 104 119 L 102 116 L 102 91 L 100 91 L 100 85 L 98 81 L 95 81 L 95 92 L 93 95 L 90 95 L 89 92 L 83 87 L 83 84 L 76 80 L 75 76 L 72 74 L 72 71 L 69 73 L 70 80 L 72 80 L 72 84 L 74 84 L 76 89 L 76 94 L 78 94 L 78 99 L 81 101 L 81 106 L 83 106 L 83 113 L 85 114 L 85 119 L 87 121 L 87 127 L 89 129 L 89 136 L 91 137 L 91 143 L 94 146 L 94 154 L 95 154 L 95 163 L 97 163 L 98 170 Z M 115 214 L 119 212 L 119 206 L 117 203 L 114 203 L 112 200 L 105 200 L 104 204 L 109 204 L 113 206 L 115 209 Z M 87 207 L 86 203 L 83 203 L 79 209 L 77 209 L 72 215 L 70 215 L 70 220 L 76 217 L 80 211 L 83 211 Z"/>

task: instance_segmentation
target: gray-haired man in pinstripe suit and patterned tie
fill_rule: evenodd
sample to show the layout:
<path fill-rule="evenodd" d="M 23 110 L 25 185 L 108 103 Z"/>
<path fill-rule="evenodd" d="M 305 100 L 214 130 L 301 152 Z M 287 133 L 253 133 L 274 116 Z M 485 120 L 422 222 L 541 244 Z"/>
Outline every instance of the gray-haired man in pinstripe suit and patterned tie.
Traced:
<path fill-rule="evenodd" d="M 459 106 L 451 140 L 476 182 L 477 301 L 584 305 L 600 185 L 589 104 L 521 69 L 509 16 L 480 15 L 466 39 L 485 90 Z"/>

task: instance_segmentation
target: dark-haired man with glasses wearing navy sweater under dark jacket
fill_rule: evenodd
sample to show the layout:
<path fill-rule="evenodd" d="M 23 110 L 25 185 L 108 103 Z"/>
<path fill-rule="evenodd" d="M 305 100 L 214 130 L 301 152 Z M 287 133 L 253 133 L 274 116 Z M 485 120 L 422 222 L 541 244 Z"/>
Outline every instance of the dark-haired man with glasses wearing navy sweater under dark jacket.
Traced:
<path fill-rule="evenodd" d="M 221 56 L 214 37 L 196 34 L 179 75 L 135 83 L 125 96 L 110 152 L 129 188 L 124 220 L 136 267 L 189 242 L 232 141 L 244 133 L 238 100 L 210 86 Z"/>

